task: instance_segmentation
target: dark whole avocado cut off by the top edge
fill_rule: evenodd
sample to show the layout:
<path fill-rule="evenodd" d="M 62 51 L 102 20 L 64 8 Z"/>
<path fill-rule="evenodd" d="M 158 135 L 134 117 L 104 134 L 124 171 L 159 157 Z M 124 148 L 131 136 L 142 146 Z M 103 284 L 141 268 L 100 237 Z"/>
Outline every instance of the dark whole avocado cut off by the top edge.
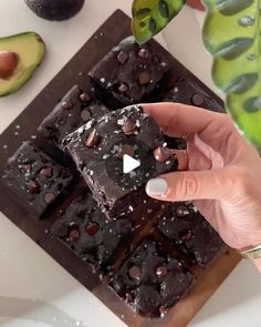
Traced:
<path fill-rule="evenodd" d="M 39 17 L 48 20 L 66 20 L 75 16 L 85 0 L 24 0 Z"/>

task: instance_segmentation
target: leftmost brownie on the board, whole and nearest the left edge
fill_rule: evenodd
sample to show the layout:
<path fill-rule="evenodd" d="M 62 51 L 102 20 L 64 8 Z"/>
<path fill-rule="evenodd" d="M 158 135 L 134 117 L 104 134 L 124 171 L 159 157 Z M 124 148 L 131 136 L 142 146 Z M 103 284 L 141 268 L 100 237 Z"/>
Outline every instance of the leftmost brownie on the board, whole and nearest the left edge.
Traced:
<path fill-rule="evenodd" d="M 40 217 L 72 181 L 64 168 L 30 142 L 9 159 L 2 180 L 29 211 Z"/>

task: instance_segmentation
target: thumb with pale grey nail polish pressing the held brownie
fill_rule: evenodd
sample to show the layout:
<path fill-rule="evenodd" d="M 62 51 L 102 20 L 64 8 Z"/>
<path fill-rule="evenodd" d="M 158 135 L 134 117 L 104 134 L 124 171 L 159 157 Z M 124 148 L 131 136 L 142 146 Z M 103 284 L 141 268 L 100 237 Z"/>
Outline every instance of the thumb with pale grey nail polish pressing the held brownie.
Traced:
<path fill-rule="evenodd" d="M 149 196 L 163 201 L 222 200 L 226 194 L 225 170 L 175 172 L 149 180 Z"/>

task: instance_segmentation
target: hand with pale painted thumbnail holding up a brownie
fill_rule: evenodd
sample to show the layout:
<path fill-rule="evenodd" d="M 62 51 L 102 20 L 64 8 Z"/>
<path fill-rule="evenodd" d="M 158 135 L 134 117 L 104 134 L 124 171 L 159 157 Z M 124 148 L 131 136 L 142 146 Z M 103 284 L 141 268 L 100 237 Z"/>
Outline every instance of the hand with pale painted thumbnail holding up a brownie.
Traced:
<path fill-rule="evenodd" d="M 261 160 L 227 114 L 178 103 L 144 104 L 169 136 L 188 135 L 187 170 L 150 180 L 163 201 L 195 201 L 231 247 L 261 244 Z M 180 166 L 185 156 L 181 159 Z"/>

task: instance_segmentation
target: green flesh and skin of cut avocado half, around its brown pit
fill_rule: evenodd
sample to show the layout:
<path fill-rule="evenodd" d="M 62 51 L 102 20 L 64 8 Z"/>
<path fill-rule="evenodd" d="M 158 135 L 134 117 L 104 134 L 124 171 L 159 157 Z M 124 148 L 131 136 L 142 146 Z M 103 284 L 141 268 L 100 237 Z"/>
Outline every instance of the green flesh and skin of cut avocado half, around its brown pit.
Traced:
<path fill-rule="evenodd" d="M 27 32 L 0 39 L 0 53 L 11 52 L 18 57 L 15 69 L 8 78 L 0 78 L 0 96 L 9 95 L 22 88 L 40 65 L 45 53 L 41 37 Z"/>

